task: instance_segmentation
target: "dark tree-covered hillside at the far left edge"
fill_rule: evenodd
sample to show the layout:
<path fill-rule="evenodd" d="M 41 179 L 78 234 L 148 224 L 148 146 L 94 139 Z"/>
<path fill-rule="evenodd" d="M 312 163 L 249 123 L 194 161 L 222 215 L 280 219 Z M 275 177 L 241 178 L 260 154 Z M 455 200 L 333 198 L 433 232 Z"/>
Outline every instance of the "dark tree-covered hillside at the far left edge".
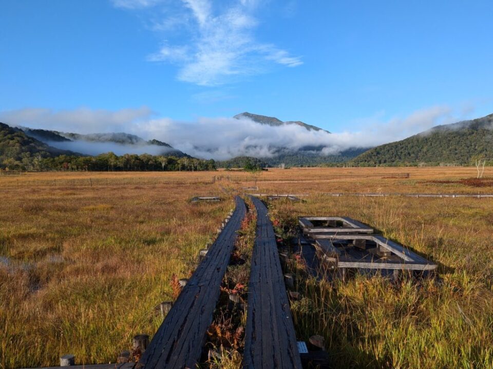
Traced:
<path fill-rule="evenodd" d="M 0 123 L 0 165 L 16 166 L 30 162 L 33 158 L 46 158 L 58 155 L 74 155 L 73 152 L 48 146 L 21 129 Z"/>

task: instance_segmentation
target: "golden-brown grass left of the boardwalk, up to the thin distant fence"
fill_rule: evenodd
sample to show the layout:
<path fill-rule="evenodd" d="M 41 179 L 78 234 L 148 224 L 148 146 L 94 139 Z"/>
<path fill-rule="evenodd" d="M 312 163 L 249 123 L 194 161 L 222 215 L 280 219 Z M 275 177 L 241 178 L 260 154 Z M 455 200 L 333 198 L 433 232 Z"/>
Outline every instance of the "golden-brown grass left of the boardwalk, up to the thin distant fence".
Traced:
<path fill-rule="evenodd" d="M 199 191 L 199 192 L 197 192 Z M 153 335 L 173 273 L 234 206 L 192 204 L 215 185 L 3 188 L 0 192 L 0 367 L 115 362 Z M 222 194 L 223 195 L 223 194 Z"/>

